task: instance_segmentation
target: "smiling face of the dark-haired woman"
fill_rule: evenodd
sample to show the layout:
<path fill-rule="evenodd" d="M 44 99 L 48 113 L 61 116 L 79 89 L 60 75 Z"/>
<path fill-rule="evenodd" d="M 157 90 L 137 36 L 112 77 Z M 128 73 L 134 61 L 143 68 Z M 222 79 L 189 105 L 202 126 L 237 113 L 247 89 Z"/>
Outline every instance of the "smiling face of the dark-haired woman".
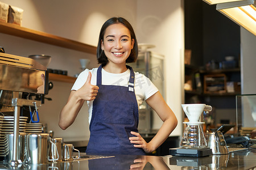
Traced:
<path fill-rule="evenodd" d="M 109 63 L 126 63 L 133 49 L 134 39 L 131 39 L 130 31 L 125 25 L 118 23 L 109 25 L 101 41 L 101 49 L 104 50 Z"/>

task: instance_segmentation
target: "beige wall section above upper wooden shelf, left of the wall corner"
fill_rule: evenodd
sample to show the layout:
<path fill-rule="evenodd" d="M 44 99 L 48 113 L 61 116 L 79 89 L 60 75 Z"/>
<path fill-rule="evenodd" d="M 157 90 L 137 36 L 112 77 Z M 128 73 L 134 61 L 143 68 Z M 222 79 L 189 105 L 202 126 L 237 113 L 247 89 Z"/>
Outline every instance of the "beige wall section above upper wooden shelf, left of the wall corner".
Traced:
<path fill-rule="evenodd" d="M 24 10 L 22 26 L 56 36 L 97 45 L 101 25 L 112 16 L 136 23 L 137 1 L 130 0 L 1 0 Z"/>

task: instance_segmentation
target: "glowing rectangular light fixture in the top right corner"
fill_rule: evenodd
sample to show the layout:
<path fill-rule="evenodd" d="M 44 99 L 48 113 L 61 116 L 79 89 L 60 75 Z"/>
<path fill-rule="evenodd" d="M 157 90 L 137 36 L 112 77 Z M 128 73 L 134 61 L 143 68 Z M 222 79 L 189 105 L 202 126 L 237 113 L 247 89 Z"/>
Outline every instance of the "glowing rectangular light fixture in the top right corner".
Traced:
<path fill-rule="evenodd" d="M 254 0 L 218 3 L 216 10 L 256 36 L 256 5 Z"/>

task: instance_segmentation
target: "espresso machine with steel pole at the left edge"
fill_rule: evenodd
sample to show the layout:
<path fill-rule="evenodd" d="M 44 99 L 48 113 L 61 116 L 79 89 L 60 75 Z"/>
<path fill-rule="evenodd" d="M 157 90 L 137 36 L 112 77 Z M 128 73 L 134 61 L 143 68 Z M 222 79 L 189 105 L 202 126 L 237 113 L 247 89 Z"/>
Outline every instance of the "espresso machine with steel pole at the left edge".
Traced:
<path fill-rule="evenodd" d="M 24 106 L 41 106 L 40 100 L 29 97 L 36 94 L 48 94 L 47 68 L 31 58 L 0 53 L 0 113 L 14 116 L 13 158 L 9 162 L 13 166 L 20 163 L 16 156 L 20 111 Z"/>

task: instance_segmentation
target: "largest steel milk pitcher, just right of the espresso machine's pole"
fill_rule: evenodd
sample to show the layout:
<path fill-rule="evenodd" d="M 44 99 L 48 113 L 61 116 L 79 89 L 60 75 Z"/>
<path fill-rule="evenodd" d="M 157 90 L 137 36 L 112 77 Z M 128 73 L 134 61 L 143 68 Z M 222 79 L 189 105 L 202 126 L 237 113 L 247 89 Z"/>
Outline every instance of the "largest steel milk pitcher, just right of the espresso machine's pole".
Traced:
<path fill-rule="evenodd" d="M 51 150 L 50 148 L 51 143 Z M 49 157 L 49 152 L 52 158 Z M 57 147 L 55 143 L 50 140 L 48 133 L 27 134 L 27 154 L 28 163 L 31 164 L 45 164 L 49 161 L 56 161 L 59 159 Z"/>

